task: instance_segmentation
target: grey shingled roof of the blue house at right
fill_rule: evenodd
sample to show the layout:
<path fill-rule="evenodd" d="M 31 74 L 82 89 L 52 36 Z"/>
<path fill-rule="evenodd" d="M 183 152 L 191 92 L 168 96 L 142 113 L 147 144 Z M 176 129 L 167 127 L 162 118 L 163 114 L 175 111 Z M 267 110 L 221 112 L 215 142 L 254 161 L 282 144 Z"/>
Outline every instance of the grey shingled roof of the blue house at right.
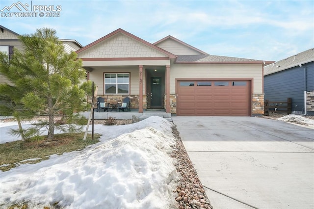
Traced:
<path fill-rule="evenodd" d="M 289 56 L 264 67 L 264 76 L 314 61 L 314 48 Z"/>

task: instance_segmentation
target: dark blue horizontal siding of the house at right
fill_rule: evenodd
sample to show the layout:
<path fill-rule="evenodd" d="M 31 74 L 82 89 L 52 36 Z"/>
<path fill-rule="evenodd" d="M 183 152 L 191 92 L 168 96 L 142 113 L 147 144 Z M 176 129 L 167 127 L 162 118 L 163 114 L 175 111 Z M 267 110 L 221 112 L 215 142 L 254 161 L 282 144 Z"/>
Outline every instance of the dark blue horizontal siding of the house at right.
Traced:
<path fill-rule="evenodd" d="M 304 69 L 293 67 L 264 77 L 265 100 L 287 101 L 292 98 L 292 111 L 304 111 Z"/>

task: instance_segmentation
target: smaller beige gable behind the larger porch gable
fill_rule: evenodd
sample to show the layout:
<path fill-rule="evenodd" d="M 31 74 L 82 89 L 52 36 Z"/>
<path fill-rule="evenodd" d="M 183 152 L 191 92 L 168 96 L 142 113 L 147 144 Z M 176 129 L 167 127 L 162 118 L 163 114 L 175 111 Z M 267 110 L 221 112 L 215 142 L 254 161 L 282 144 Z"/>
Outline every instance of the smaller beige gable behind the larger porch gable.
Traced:
<path fill-rule="evenodd" d="M 160 43 L 156 44 L 157 47 L 166 50 L 167 52 L 171 52 L 175 55 L 202 55 L 204 53 L 193 50 L 192 48 L 183 45 L 173 39 L 166 39 Z"/>

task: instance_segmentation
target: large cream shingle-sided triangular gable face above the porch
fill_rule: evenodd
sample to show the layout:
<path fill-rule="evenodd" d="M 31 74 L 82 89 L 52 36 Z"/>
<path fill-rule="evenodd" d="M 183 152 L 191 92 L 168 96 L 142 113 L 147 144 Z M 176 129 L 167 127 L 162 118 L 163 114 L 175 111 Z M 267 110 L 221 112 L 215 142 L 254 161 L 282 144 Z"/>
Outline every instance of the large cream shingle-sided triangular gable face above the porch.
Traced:
<path fill-rule="evenodd" d="M 84 49 L 84 48 L 83 48 Z M 82 50 L 83 50 L 82 49 Z M 130 36 L 117 33 L 84 51 L 78 51 L 79 58 L 119 58 L 119 57 L 168 57 L 147 44 Z"/>

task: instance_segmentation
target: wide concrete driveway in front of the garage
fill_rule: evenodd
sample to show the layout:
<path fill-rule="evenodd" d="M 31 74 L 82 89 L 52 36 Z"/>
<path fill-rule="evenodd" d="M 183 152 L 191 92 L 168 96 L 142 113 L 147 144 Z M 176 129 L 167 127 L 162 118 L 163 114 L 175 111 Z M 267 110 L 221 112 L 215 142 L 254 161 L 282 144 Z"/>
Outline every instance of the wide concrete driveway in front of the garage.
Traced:
<path fill-rule="evenodd" d="M 214 209 L 313 209 L 314 129 L 257 117 L 172 117 Z"/>

